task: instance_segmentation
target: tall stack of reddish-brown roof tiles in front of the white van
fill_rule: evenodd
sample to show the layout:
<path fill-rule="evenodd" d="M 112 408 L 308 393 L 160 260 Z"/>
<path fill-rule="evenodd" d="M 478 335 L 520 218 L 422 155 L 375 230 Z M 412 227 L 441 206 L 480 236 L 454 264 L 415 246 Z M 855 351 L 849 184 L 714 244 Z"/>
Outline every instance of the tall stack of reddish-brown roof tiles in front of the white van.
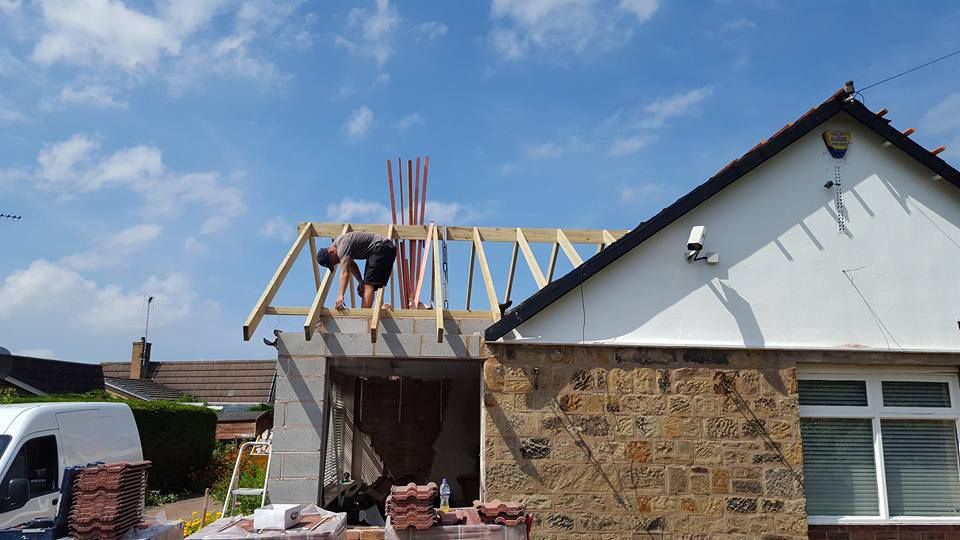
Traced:
<path fill-rule="evenodd" d="M 149 461 L 95 465 L 73 481 L 70 533 L 77 540 L 115 540 L 143 519 Z"/>

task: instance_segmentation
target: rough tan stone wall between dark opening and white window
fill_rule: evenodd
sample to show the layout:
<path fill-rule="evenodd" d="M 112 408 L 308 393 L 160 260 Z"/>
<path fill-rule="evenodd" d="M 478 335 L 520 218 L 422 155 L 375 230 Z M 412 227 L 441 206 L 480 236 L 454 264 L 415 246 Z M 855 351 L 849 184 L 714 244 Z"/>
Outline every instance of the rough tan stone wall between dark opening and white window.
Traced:
<path fill-rule="evenodd" d="M 523 501 L 537 537 L 806 537 L 792 359 L 488 346 L 484 498 Z"/>

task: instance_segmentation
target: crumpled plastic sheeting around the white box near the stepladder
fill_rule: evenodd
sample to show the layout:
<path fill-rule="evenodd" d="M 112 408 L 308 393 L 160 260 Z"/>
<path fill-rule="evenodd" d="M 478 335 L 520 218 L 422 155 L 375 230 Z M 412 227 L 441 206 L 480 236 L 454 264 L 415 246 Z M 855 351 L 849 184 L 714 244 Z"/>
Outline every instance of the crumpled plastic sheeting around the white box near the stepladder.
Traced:
<path fill-rule="evenodd" d="M 253 516 L 220 518 L 200 529 L 189 540 L 342 540 L 347 515 L 324 510 L 315 504 L 303 508 L 300 523 L 285 531 L 253 530 Z"/>

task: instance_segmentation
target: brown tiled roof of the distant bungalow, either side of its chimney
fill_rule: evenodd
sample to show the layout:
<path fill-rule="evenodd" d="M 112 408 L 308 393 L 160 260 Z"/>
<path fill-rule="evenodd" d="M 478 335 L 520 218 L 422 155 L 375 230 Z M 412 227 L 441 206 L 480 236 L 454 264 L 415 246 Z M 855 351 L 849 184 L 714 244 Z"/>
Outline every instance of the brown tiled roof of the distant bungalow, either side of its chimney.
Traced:
<path fill-rule="evenodd" d="M 130 378 L 129 362 L 105 362 L 103 373 Z M 150 362 L 147 379 L 207 403 L 269 403 L 273 399 L 273 360 Z"/>

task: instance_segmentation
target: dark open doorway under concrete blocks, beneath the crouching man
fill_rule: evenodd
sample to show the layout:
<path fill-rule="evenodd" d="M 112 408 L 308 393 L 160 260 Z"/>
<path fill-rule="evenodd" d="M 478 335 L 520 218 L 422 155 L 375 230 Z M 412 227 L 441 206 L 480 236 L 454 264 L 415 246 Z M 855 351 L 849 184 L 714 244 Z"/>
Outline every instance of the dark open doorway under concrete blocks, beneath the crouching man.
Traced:
<path fill-rule="evenodd" d="M 451 506 L 480 498 L 481 365 L 332 362 L 321 500 L 350 525 L 382 525 L 393 485 L 446 478 Z"/>

